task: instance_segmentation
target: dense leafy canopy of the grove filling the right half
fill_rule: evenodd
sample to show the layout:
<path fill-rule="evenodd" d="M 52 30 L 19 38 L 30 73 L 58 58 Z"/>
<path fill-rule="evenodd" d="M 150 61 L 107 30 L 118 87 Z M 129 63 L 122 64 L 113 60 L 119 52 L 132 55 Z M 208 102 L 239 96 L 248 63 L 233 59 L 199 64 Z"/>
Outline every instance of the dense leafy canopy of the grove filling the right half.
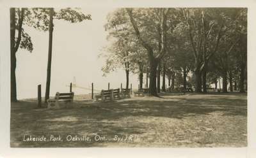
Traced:
<path fill-rule="evenodd" d="M 184 85 L 186 77 L 193 78 L 196 91 L 201 92 L 203 85 L 206 92 L 220 77 L 232 86 L 236 71 L 239 78 L 246 78 L 246 16 L 246 8 L 120 8 L 108 15 L 106 31 L 109 37 L 132 41 L 112 52 L 129 47 L 127 56 L 115 57 L 129 61 L 130 70 L 140 69 L 136 67 L 140 61 L 147 63 L 151 90 L 156 88 L 156 67 L 161 61 L 169 79 L 178 75 L 180 80 L 182 72 Z M 115 68 L 117 61 L 112 57 L 107 64 Z"/>

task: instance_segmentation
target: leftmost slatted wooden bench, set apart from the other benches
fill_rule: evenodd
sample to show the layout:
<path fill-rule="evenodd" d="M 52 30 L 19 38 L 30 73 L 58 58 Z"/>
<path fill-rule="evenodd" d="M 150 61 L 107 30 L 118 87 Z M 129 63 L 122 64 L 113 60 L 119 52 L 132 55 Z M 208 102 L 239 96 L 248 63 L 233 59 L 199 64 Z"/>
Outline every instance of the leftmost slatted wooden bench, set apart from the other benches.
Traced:
<path fill-rule="evenodd" d="M 47 108 L 60 108 L 60 102 L 72 103 L 74 100 L 74 92 L 60 93 L 56 92 L 54 99 L 47 100 Z M 67 104 L 66 104 L 67 108 Z"/>

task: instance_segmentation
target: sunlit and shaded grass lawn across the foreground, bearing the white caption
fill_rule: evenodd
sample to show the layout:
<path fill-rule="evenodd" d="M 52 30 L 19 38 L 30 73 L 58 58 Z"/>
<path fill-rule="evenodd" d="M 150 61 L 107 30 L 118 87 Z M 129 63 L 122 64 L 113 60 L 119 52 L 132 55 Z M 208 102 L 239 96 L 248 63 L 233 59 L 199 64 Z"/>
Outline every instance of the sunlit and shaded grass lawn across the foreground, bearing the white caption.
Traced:
<path fill-rule="evenodd" d="M 47 141 L 23 141 L 42 135 Z M 51 135 L 62 141 L 49 141 Z M 11 106 L 10 137 L 11 147 L 246 147 L 247 96 L 163 94 L 112 103 L 80 96 L 60 109 L 39 109 L 26 99 Z"/>

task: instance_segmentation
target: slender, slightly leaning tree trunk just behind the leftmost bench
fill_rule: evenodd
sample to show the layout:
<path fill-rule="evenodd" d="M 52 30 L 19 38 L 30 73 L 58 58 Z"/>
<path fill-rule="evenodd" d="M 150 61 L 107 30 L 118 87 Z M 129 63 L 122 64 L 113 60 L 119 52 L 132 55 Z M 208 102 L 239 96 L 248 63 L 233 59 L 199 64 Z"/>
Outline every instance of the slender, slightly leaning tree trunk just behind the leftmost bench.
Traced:
<path fill-rule="evenodd" d="M 52 31 L 53 31 L 53 8 L 49 9 L 49 17 L 50 17 L 50 24 L 49 24 L 49 49 L 48 49 L 48 62 L 47 62 L 47 78 L 46 78 L 46 89 L 45 89 L 45 100 L 44 102 L 47 103 L 47 99 L 49 99 L 50 95 L 50 83 L 51 83 L 51 62 L 52 62 Z"/>

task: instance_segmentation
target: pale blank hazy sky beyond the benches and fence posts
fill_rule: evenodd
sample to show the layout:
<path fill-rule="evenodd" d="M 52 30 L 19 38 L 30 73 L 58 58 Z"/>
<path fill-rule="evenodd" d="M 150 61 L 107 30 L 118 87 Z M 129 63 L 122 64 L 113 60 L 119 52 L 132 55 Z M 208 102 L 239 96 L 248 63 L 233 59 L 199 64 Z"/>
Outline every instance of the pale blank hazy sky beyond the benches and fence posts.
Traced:
<path fill-rule="evenodd" d="M 102 47 L 108 45 L 104 30 L 106 15 L 114 8 L 83 8 L 90 13 L 92 20 L 70 24 L 64 20 L 54 20 L 52 41 L 51 96 L 56 92 L 67 92 L 66 86 L 76 77 L 77 85 L 88 88 L 94 83 L 95 89 L 107 89 L 125 85 L 125 72 L 119 69 L 106 77 L 102 76 L 101 68 L 104 59 L 98 55 Z M 45 94 L 47 73 L 47 55 L 49 32 L 36 31 L 24 27 L 33 41 L 34 50 L 29 53 L 19 49 L 17 52 L 17 97 L 28 98 L 37 96 L 37 85 L 42 84 L 42 96 Z M 138 76 L 132 75 L 133 87 L 138 87 Z M 73 89 L 75 94 L 88 93 L 88 90 Z"/>

